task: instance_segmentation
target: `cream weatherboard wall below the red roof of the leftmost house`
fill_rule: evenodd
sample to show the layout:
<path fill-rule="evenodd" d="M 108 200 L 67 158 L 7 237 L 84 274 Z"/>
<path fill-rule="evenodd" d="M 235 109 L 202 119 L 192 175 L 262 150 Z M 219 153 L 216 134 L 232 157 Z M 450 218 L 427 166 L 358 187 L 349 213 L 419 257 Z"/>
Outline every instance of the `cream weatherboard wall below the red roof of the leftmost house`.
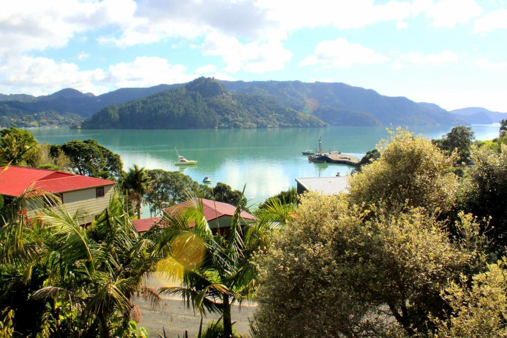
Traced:
<path fill-rule="evenodd" d="M 74 214 L 79 208 L 82 208 L 88 213 L 88 216 L 81 218 L 80 223 L 91 222 L 95 215 L 102 212 L 109 204 L 114 192 L 113 188 L 113 184 L 105 185 L 104 196 L 98 198 L 96 197 L 95 187 L 63 193 L 63 206 L 69 214 Z M 39 207 L 28 204 L 27 209 L 29 209 L 28 215 L 34 216 Z"/>

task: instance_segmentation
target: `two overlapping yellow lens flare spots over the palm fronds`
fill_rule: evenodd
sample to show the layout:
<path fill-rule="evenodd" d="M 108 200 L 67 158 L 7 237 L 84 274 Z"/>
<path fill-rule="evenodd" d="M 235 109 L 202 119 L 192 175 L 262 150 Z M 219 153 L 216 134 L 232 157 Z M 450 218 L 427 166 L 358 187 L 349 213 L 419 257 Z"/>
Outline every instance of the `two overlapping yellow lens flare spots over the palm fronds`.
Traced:
<path fill-rule="evenodd" d="M 164 286 L 179 286 L 185 269 L 195 269 L 202 265 L 205 246 L 203 241 L 192 233 L 183 233 L 170 243 L 170 254 L 157 264 L 155 278 Z"/>

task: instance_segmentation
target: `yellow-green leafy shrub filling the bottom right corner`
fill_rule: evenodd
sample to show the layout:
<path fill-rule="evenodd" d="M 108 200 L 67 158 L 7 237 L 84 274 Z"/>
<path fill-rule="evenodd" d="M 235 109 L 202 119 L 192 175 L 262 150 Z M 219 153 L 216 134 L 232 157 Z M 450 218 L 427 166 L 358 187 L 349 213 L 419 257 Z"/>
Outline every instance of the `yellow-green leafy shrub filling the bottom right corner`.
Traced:
<path fill-rule="evenodd" d="M 487 271 L 452 282 L 442 291 L 449 304 L 449 317 L 432 318 L 435 338 L 476 338 L 507 336 L 506 259 L 490 264 Z"/>

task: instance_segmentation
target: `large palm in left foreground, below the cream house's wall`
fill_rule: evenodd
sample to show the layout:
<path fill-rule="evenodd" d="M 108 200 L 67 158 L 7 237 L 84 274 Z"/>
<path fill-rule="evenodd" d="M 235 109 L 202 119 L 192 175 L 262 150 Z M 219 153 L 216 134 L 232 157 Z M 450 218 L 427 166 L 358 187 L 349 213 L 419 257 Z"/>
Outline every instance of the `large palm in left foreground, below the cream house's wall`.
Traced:
<path fill-rule="evenodd" d="M 148 242 L 138 236 L 124 205 L 116 194 L 87 229 L 78 223 L 80 211 L 70 215 L 61 206 L 37 217 L 47 229 L 43 259 L 49 285 L 34 297 L 50 297 L 78 310 L 88 325 L 96 323 L 103 338 L 111 336 L 115 319 L 120 318 L 121 324 L 116 320 L 116 325 L 121 329 L 127 327 L 135 294 L 148 297 L 154 305 L 160 300 L 155 290 L 142 284 L 152 266 Z"/>

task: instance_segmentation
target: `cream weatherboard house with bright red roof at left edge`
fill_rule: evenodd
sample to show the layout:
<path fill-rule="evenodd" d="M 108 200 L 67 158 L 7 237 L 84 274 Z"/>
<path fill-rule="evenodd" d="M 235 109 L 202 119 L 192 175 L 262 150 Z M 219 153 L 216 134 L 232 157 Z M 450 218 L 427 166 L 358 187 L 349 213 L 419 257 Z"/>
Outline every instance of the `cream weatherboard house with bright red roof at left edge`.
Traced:
<path fill-rule="evenodd" d="M 49 192 L 61 199 L 70 214 L 83 208 L 88 215 L 80 219 L 81 224 L 90 223 L 95 215 L 103 211 L 113 194 L 115 181 L 59 170 L 9 166 L 0 167 L 0 195 L 4 204 L 26 191 Z M 33 216 L 42 207 L 33 201 L 25 202 L 28 215 Z"/>

